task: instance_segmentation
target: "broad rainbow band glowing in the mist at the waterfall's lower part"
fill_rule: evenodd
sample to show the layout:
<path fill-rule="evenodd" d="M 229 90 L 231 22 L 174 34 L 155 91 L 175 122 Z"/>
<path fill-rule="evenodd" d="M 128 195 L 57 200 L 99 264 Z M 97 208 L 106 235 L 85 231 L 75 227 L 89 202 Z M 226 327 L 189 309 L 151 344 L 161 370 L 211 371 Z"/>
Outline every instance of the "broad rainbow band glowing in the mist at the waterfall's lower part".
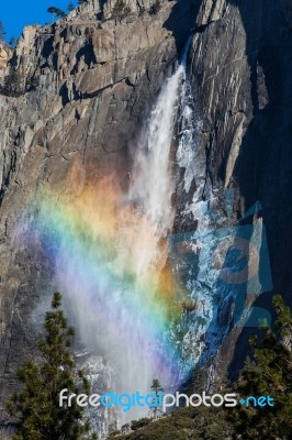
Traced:
<path fill-rule="evenodd" d="M 180 308 L 166 238 L 156 237 L 112 177 L 87 184 L 74 196 L 42 189 L 27 211 L 36 205 L 38 213 L 22 240 L 33 245 L 37 238 L 52 261 L 54 283 L 68 298 L 86 343 L 121 363 L 132 378 L 178 383 L 180 351 L 170 334 Z M 138 377 L 134 383 L 139 389 Z"/>

